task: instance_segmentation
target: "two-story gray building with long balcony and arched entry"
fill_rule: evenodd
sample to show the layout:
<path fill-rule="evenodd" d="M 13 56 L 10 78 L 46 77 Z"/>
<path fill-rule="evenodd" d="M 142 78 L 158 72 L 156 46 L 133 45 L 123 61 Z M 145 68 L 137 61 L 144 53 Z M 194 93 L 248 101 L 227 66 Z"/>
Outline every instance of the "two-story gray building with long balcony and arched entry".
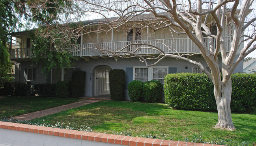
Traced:
<path fill-rule="evenodd" d="M 97 20 L 93 20 L 97 22 Z M 94 24 L 95 26 L 95 24 Z M 90 27 L 90 26 L 88 26 Z M 214 25 L 211 26 L 212 31 L 216 31 Z M 230 50 L 231 39 L 228 28 L 224 28 L 224 42 L 227 52 Z M 135 50 L 138 46 L 145 46 L 144 44 L 152 44 L 171 54 L 194 54 L 199 53 L 199 48 L 187 37 L 187 35 L 177 35 L 172 31 L 165 29 L 153 31 L 151 28 L 135 27 L 130 30 L 112 30 L 107 34 L 92 32 L 80 36 L 79 44 L 71 47 L 72 55 L 80 57 L 79 61 L 75 61 L 74 66 L 69 69 L 62 68 L 57 70 L 52 68 L 51 72 L 45 81 L 45 75 L 41 73 L 41 68 L 32 66 L 32 40 L 28 36 L 28 31 L 11 33 L 12 37 L 17 40 L 16 48 L 11 50 L 10 59 L 16 61 L 15 63 L 15 81 L 16 82 L 31 82 L 38 83 L 56 83 L 60 80 L 69 80 L 72 76 L 73 70 L 83 70 L 86 72 L 86 83 L 84 96 L 98 96 L 103 94 L 110 94 L 109 92 L 109 70 L 123 69 L 126 77 L 126 99 L 127 85 L 132 80 L 159 80 L 164 83 L 164 76 L 166 74 L 178 72 L 201 72 L 196 66 L 183 60 L 175 58 L 165 58 L 153 67 L 145 67 L 145 63 L 138 58 L 118 58 L 107 57 L 107 54 L 102 54 L 97 48 L 104 48 L 104 50 L 117 51 L 128 44 L 136 43 L 127 47 L 127 50 Z M 205 39 L 206 44 L 207 38 Z M 173 49 L 173 50 L 172 50 Z M 136 51 L 137 54 L 159 54 L 156 50 L 140 49 Z M 126 54 L 119 54 L 126 55 Z M 238 57 L 238 55 L 237 55 Z M 219 55 L 220 58 L 220 55 Z M 206 69 L 207 63 L 201 55 L 189 56 L 189 59 L 202 63 Z M 219 59 L 220 61 L 221 59 Z M 152 60 L 153 62 L 153 60 Z M 221 63 L 219 63 L 221 67 Z M 234 72 L 243 72 L 243 63 L 240 63 Z"/>

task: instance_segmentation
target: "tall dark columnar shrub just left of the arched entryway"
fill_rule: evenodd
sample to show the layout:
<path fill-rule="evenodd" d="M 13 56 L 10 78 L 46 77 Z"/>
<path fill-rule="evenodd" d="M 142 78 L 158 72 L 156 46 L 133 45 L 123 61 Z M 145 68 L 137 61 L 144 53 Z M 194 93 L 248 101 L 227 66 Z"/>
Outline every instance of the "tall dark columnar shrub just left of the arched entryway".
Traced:
<path fill-rule="evenodd" d="M 84 96 L 85 75 L 86 72 L 84 71 L 73 70 L 71 81 L 71 90 L 73 98 L 79 98 Z"/>

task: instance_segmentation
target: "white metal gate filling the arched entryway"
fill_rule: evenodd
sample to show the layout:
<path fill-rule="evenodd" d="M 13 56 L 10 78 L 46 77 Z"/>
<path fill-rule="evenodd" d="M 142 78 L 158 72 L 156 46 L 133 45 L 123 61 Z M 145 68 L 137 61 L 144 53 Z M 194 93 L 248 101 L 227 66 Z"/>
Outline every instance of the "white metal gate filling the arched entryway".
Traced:
<path fill-rule="evenodd" d="M 105 95 L 110 94 L 109 90 L 109 71 L 111 68 L 107 65 L 101 65 L 95 69 L 94 79 L 94 95 Z"/>

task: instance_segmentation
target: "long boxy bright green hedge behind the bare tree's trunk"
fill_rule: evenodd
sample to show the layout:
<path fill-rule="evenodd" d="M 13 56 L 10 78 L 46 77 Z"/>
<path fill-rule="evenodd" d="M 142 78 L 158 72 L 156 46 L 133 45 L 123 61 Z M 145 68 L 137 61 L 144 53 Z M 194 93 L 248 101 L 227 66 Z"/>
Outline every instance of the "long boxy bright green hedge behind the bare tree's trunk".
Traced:
<path fill-rule="evenodd" d="M 256 107 L 256 75 L 233 74 L 231 111 Z M 217 111 L 213 83 L 206 74 L 178 73 L 164 78 L 165 102 L 176 109 Z"/>

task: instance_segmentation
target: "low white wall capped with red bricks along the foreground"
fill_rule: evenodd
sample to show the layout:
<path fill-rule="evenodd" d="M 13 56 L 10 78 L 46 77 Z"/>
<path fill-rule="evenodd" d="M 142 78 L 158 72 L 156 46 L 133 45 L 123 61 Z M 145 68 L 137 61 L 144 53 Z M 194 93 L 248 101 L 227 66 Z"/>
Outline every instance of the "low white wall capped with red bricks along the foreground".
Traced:
<path fill-rule="evenodd" d="M 0 146 L 217 146 L 0 122 Z"/>

